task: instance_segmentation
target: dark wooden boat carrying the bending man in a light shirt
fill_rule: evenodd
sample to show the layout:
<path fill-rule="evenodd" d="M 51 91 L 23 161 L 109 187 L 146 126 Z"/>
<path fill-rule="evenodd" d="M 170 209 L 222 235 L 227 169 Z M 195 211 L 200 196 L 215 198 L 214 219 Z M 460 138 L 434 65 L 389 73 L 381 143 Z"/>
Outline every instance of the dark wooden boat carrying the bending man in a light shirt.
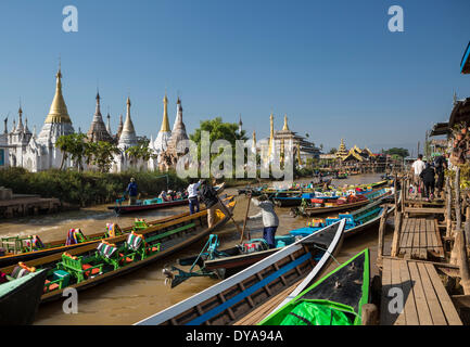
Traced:
<path fill-rule="evenodd" d="M 282 247 L 285 247 L 296 241 L 292 235 L 275 236 L 276 247 L 269 249 L 264 239 L 253 239 L 226 249 L 217 249 L 218 237 L 215 234 L 209 239 L 198 256 L 191 256 L 178 259 L 180 266 L 191 266 L 189 272 L 173 267 L 168 271 L 178 271 L 172 281 L 172 287 L 177 286 L 192 277 L 212 277 L 226 279 L 230 275 L 245 269 L 246 267 L 270 256 Z M 199 270 L 193 271 L 195 266 Z"/>

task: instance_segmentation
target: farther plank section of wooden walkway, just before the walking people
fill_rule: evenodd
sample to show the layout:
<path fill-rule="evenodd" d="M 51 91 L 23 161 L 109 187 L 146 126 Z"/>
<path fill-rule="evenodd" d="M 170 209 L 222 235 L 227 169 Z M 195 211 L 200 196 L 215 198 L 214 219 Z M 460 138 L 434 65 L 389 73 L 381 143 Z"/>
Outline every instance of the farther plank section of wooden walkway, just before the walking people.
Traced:
<path fill-rule="evenodd" d="M 444 258 L 436 219 L 404 218 L 399 232 L 398 256 L 427 260 L 429 255 Z"/>

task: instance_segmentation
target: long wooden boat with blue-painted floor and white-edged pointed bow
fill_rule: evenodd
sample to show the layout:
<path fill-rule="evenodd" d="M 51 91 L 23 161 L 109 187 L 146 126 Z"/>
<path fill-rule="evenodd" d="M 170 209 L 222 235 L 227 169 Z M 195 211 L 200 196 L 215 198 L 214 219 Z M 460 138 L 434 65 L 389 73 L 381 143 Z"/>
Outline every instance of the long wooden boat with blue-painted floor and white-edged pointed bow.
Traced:
<path fill-rule="evenodd" d="M 307 274 L 317 279 L 341 248 L 343 229 L 344 221 L 329 226 L 137 324 L 231 324 Z"/>

